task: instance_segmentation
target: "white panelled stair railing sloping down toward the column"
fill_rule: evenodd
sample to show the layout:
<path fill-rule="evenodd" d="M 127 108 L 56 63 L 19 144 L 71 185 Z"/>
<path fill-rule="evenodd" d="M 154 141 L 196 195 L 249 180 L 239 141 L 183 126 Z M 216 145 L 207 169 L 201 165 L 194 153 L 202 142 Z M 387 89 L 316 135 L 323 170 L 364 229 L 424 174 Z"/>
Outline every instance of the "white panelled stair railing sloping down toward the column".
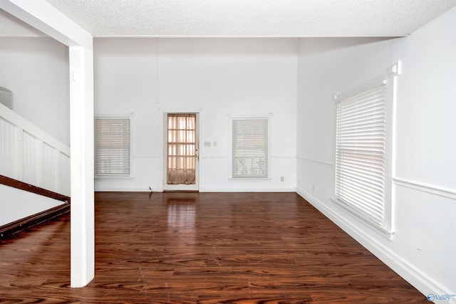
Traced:
<path fill-rule="evenodd" d="M 70 196 L 70 147 L 0 104 L 0 175 Z"/>

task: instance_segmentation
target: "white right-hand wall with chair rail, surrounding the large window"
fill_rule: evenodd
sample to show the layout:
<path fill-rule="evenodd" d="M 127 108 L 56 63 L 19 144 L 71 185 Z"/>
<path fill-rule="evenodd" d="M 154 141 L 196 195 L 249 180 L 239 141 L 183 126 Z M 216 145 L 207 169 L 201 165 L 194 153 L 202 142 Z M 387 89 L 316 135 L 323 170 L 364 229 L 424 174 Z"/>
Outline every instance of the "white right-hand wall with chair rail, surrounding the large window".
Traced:
<path fill-rule="evenodd" d="M 455 28 L 452 9 L 407 38 L 312 38 L 299 45 L 297 191 L 425 295 L 456 293 Z M 333 94 L 399 60 L 395 237 L 388 241 L 330 199 Z"/>

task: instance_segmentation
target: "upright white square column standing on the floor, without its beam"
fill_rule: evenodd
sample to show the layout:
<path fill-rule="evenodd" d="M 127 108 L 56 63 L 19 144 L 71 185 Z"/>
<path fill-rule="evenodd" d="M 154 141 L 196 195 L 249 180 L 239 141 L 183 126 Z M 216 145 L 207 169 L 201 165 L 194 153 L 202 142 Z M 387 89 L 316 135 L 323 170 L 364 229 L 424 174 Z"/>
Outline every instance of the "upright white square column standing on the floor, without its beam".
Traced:
<path fill-rule="evenodd" d="M 70 46 L 71 287 L 95 275 L 93 51 Z"/>

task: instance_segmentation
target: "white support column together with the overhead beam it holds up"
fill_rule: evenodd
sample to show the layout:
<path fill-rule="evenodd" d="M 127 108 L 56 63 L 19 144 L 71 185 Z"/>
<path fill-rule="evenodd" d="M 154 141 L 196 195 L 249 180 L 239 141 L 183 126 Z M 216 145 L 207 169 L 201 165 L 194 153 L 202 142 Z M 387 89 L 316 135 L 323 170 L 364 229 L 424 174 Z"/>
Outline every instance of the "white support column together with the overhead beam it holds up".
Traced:
<path fill-rule="evenodd" d="M 0 0 L 0 9 L 68 46 L 71 120 L 71 286 L 95 273 L 93 37 L 46 0 Z"/>

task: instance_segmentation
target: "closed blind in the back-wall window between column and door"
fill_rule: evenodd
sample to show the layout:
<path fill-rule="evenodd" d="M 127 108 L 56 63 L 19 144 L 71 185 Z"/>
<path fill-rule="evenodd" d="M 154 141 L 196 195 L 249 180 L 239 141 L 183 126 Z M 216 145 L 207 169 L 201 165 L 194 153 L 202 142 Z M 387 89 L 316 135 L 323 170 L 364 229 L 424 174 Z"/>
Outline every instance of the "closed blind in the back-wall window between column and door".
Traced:
<path fill-rule="evenodd" d="M 130 176 L 130 118 L 95 118 L 95 176 Z"/>

